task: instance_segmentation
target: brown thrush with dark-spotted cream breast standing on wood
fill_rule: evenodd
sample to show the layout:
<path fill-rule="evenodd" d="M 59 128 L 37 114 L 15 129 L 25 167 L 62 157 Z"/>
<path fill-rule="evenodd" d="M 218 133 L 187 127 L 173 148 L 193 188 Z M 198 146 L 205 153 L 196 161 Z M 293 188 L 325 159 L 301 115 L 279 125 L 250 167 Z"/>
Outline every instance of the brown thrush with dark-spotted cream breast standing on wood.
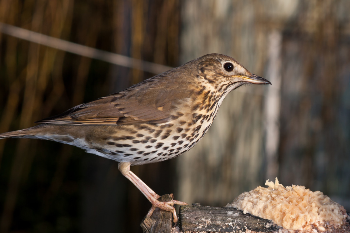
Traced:
<path fill-rule="evenodd" d="M 120 92 L 77 105 L 38 125 L 1 133 L 3 138 L 33 138 L 77 146 L 118 162 L 118 169 L 156 207 L 172 212 L 130 171 L 132 165 L 160 162 L 190 150 L 213 123 L 225 96 L 244 84 L 270 84 L 235 59 L 204 55 Z M 173 196 L 172 196 L 173 197 Z"/>

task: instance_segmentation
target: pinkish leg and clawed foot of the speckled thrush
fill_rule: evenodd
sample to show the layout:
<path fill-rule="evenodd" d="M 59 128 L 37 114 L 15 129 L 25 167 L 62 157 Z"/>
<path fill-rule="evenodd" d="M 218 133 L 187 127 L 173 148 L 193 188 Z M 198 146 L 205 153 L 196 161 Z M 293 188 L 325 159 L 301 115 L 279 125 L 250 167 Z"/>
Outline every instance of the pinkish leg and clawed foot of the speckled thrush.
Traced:
<path fill-rule="evenodd" d="M 149 202 L 152 203 L 152 208 L 147 213 L 147 216 L 151 217 L 153 211 L 156 207 L 159 207 L 162 210 L 169 211 L 173 213 L 174 223 L 177 222 L 177 216 L 175 212 L 174 204 L 179 205 L 188 205 L 186 202 L 180 202 L 176 200 L 172 200 L 170 202 L 160 202 L 158 198 L 160 197 L 156 194 L 151 188 L 147 186 L 139 177 L 137 177 L 133 172 L 130 171 L 130 162 L 119 162 L 118 169 L 128 180 L 130 180 L 148 199 Z M 173 197 L 173 195 L 172 195 Z"/>

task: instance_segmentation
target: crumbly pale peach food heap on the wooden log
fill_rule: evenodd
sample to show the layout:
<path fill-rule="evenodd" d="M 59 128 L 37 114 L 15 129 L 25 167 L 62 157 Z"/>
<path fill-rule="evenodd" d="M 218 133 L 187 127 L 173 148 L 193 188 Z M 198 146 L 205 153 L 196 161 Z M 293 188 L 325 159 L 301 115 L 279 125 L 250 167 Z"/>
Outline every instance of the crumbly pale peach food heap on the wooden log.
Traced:
<path fill-rule="evenodd" d="M 275 183 L 267 180 L 265 185 L 240 194 L 226 207 L 235 207 L 244 213 L 272 220 L 289 230 L 307 229 L 309 226 L 323 230 L 341 228 L 345 223 L 346 211 L 320 191 L 310 191 L 304 186 L 283 187 L 276 178 Z"/>

